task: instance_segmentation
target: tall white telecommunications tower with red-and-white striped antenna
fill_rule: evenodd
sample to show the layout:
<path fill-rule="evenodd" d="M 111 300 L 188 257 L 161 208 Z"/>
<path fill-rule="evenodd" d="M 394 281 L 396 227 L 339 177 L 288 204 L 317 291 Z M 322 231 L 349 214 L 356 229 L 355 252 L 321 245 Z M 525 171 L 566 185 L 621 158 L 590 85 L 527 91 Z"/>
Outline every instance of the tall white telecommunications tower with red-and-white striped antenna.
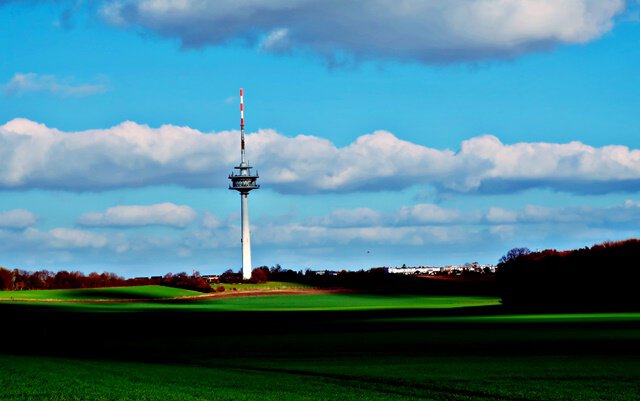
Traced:
<path fill-rule="evenodd" d="M 229 189 L 240 192 L 242 214 L 242 278 L 251 278 L 251 232 L 249 230 L 249 192 L 260 188 L 257 184 L 258 172 L 251 172 L 251 166 L 244 155 L 244 100 L 240 88 L 240 165 L 234 167 L 237 173 L 229 174 Z"/>

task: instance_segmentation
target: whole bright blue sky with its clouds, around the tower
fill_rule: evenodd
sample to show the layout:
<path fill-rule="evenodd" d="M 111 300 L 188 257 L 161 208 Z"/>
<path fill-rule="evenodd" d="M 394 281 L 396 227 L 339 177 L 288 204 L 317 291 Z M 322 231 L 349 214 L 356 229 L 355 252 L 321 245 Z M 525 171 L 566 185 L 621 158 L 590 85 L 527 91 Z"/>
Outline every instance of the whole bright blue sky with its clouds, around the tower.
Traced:
<path fill-rule="evenodd" d="M 637 237 L 640 24 L 620 0 L 0 0 L 7 267 L 495 263 Z"/>

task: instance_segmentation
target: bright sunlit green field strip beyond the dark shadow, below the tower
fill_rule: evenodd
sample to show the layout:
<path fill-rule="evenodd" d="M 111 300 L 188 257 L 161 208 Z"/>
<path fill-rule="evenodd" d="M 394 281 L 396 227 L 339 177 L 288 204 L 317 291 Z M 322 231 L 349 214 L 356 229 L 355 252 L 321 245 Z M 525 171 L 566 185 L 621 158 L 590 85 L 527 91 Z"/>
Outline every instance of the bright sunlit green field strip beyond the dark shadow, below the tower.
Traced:
<path fill-rule="evenodd" d="M 273 289 L 304 289 L 304 286 L 283 285 L 283 283 L 243 284 L 245 287 L 238 292 Z M 184 302 L 177 300 L 170 302 L 169 298 L 205 295 L 196 291 L 163 286 L 113 287 L 100 289 L 74 290 L 31 290 L 31 291 L 0 291 L 0 300 L 30 301 L 38 304 L 42 301 L 55 300 L 56 307 L 131 311 L 170 309 L 183 311 L 350 311 L 376 309 L 448 309 L 471 306 L 498 305 L 496 297 L 477 296 L 426 296 L 426 295 L 372 295 L 362 293 L 349 294 L 293 294 L 271 296 L 242 296 L 223 297 L 219 299 L 202 299 Z M 82 303 L 64 301 L 95 301 L 95 300 L 139 300 L 140 302 L 105 302 Z M 145 302 L 149 300 L 149 302 Z M 165 302 L 158 302 L 165 301 Z"/>

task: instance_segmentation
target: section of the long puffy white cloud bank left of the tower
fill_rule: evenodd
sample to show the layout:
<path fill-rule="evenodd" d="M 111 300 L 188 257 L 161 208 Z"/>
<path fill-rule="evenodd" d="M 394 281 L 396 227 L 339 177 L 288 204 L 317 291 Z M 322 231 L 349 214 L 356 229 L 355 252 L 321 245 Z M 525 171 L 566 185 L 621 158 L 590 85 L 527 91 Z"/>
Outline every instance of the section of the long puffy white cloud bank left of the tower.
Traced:
<path fill-rule="evenodd" d="M 224 185 L 237 162 L 233 132 L 215 135 L 131 122 L 65 133 L 25 119 L 0 126 L 2 188 L 105 190 L 161 184 Z M 234 157 L 236 156 L 236 157 Z"/>

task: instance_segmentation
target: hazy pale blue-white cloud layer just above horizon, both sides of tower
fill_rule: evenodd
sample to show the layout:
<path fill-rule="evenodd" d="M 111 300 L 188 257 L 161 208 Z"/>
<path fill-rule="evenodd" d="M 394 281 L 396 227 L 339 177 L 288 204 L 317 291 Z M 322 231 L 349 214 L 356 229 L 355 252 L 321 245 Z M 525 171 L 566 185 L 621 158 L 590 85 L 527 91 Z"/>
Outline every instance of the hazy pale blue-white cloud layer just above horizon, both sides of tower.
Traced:
<path fill-rule="evenodd" d="M 126 223 L 132 223 L 128 219 L 130 215 L 124 215 Z M 167 269 L 174 271 L 184 270 L 184 263 L 189 266 L 211 263 L 212 258 L 218 260 L 218 266 L 229 267 L 229 261 L 232 261 L 230 266 L 234 266 L 240 250 L 238 219 L 219 218 L 210 213 L 201 217 L 201 224 L 156 234 L 101 227 L 0 228 L 0 250 L 5 260 L 8 255 L 27 255 L 30 265 L 37 268 L 43 266 L 39 260 L 60 260 L 61 257 L 80 264 L 94 260 L 100 266 L 104 266 L 105 261 L 140 265 L 140 261 L 153 260 L 163 266 L 173 266 Z M 328 260 L 340 267 L 345 267 L 345 260 L 385 263 L 376 259 L 378 257 L 388 263 L 491 262 L 515 246 L 570 248 L 637 237 L 637 221 L 640 221 L 640 202 L 636 199 L 607 207 L 528 205 L 476 210 L 417 204 L 389 212 L 371 208 L 340 209 L 303 220 L 295 217 L 283 220 L 281 216 L 262 218 L 252 225 L 252 241 L 256 255 L 260 255 L 257 258 L 264 261 L 258 263 L 286 260 L 293 262 L 295 268 L 300 267 L 301 260 L 314 261 L 306 265 L 312 267 L 327 265 Z M 409 255 L 411 259 L 405 259 Z M 433 258 L 442 262 L 433 262 Z"/>

